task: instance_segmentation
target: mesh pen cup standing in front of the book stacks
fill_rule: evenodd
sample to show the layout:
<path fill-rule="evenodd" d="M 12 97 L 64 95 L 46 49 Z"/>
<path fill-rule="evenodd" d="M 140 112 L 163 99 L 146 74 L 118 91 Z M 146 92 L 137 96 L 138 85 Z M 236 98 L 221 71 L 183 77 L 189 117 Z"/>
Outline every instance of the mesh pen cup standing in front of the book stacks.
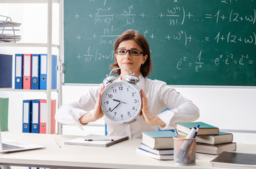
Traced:
<path fill-rule="evenodd" d="M 177 165 L 196 164 L 196 139 L 186 137 L 173 137 L 174 139 L 174 163 Z"/>

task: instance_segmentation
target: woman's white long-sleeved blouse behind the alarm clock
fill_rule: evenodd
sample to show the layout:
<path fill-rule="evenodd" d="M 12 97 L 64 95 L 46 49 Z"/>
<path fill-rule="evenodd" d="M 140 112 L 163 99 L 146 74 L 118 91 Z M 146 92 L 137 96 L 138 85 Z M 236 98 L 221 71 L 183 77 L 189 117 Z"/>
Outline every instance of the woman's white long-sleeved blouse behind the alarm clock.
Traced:
<path fill-rule="evenodd" d="M 179 94 L 173 87 L 159 80 L 150 80 L 140 75 L 139 86 L 144 90 L 149 102 L 149 108 L 153 115 L 163 120 L 165 126 L 159 126 L 162 130 L 175 127 L 175 123 L 190 122 L 199 118 L 199 109 L 192 101 Z M 81 127 L 79 118 L 85 113 L 93 111 L 100 87 L 88 89 L 78 101 L 62 105 L 57 111 L 55 118 L 59 123 L 66 125 L 78 125 Z M 170 111 L 164 111 L 166 107 Z M 156 131 L 158 126 L 145 123 L 141 117 L 131 124 L 117 124 L 103 116 L 107 124 L 108 135 L 126 136 L 130 138 L 141 138 L 141 132 Z"/>

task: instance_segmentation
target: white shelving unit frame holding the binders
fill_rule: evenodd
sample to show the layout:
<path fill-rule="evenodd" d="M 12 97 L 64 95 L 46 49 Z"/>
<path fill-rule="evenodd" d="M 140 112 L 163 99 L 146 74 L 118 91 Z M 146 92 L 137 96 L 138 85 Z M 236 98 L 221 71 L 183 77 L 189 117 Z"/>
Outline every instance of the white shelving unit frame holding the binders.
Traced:
<path fill-rule="evenodd" d="M 47 89 L 46 90 L 29 90 L 29 89 L 13 89 L 13 88 L 1 88 L 0 91 L 6 92 L 42 92 L 46 93 L 47 100 L 47 113 L 48 113 L 48 125 L 47 133 L 50 133 L 50 121 L 51 121 L 51 99 L 52 92 L 57 92 L 58 97 L 58 107 L 62 105 L 62 1 L 61 0 L 0 0 L 0 4 L 47 4 L 47 43 L 0 43 L 0 47 L 36 47 L 36 48 L 47 48 Z M 59 4 L 59 43 L 52 44 L 52 4 Z M 57 89 L 52 89 L 52 49 L 56 48 L 58 50 L 57 58 L 57 77 L 58 77 L 58 86 Z M 58 133 L 62 133 L 61 125 L 59 124 Z"/>

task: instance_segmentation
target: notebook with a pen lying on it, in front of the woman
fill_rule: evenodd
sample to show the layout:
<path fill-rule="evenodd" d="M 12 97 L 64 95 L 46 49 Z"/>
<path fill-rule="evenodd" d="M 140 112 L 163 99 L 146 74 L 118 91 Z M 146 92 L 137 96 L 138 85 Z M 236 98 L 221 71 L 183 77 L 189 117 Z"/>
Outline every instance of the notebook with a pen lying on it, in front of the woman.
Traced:
<path fill-rule="evenodd" d="M 64 143 L 71 144 L 71 145 L 82 145 L 82 146 L 111 146 L 113 144 L 117 144 L 127 139 L 129 139 L 129 136 L 118 137 L 118 136 L 88 134 L 83 137 L 71 139 Z"/>

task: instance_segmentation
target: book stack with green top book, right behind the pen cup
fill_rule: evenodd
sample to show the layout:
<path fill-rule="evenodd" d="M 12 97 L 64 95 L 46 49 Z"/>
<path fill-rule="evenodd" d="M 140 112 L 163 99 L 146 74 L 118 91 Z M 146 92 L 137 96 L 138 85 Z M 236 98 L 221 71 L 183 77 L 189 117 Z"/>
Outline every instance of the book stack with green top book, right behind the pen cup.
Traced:
<path fill-rule="evenodd" d="M 219 127 L 203 122 L 177 123 L 180 134 L 186 135 L 191 128 L 200 125 L 197 132 L 197 153 L 221 154 L 223 151 L 235 151 L 236 143 L 233 142 L 233 134 L 219 132 Z"/>

